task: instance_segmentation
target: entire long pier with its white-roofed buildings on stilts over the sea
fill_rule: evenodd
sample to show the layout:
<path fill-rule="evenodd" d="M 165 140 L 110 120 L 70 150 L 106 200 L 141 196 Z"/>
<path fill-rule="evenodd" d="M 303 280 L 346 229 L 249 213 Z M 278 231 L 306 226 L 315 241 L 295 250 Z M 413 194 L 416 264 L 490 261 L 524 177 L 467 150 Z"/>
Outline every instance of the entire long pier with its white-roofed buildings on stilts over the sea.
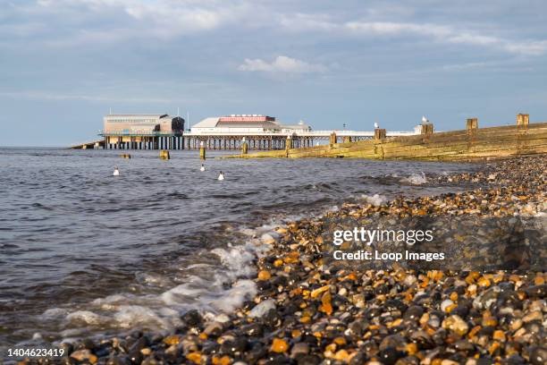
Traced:
<path fill-rule="evenodd" d="M 72 149 L 298 149 L 337 141 L 374 138 L 374 131 L 315 131 L 300 121 L 283 124 L 269 115 L 225 115 L 208 117 L 184 130 L 184 119 L 169 115 L 106 115 L 103 140 L 72 145 Z M 385 132 L 387 137 L 420 134 Z"/>

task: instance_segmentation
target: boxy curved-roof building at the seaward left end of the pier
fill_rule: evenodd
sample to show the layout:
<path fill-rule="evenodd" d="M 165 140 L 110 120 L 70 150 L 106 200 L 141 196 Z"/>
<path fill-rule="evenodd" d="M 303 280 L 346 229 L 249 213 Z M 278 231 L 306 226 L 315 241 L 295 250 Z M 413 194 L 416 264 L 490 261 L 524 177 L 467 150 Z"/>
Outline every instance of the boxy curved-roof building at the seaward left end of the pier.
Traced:
<path fill-rule="evenodd" d="M 183 149 L 184 119 L 170 115 L 106 115 L 105 149 Z"/>

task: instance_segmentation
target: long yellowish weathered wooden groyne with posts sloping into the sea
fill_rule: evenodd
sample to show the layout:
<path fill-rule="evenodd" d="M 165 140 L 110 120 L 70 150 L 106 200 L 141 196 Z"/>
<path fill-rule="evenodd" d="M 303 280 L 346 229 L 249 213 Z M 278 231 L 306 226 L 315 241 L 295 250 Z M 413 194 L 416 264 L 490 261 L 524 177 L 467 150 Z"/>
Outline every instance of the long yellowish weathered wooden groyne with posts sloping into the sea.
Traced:
<path fill-rule="evenodd" d="M 528 123 L 528 115 L 518 115 L 517 124 L 478 128 L 476 118 L 467 119 L 467 129 L 433 132 L 425 124 L 422 134 L 386 138 L 377 129 L 372 140 L 330 143 L 304 149 L 285 149 L 241 154 L 231 157 L 338 157 L 369 159 L 417 159 L 433 161 L 472 161 L 547 153 L 547 123 Z M 287 143 L 290 146 L 290 143 Z"/>

